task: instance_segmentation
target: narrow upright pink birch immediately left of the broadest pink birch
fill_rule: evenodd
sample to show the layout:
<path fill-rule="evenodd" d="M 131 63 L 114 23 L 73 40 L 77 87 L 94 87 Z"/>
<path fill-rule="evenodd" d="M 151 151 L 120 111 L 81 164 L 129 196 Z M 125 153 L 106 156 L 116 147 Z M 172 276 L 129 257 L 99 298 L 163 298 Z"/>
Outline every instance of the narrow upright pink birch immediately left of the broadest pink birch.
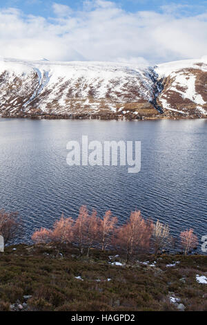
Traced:
<path fill-rule="evenodd" d="M 112 216 L 110 210 L 106 211 L 103 219 L 99 221 L 99 243 L 101 244 L 101 250 L 104 251 L 112 243 L 112 236 L 115 233 L 117 225 L 117 217 Z"/>

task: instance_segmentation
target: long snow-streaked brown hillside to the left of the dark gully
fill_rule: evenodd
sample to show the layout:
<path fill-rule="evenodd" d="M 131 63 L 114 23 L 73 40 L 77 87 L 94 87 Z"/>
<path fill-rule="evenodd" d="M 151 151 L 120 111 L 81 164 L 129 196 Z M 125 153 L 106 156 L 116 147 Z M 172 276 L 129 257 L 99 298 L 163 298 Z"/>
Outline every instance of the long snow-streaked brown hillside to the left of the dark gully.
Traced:
<path fill-rule="evenodd" d="M 148 67 L 108 62 L 0 63 L 0 112 L 32 114 L 120 113 L 149 103 L 153 81 Z M 142 106 L 141 106 L 142 105 Z"/>

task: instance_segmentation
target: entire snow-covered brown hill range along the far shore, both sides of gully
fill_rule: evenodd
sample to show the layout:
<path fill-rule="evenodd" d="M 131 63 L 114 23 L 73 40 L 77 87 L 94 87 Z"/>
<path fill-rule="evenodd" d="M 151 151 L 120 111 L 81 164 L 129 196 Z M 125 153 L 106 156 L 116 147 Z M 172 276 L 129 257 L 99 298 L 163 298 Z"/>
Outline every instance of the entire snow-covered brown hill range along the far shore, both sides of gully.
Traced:
<path fill-rule="evenodd" d="M 204 58 L 152 68 L 110 62 L 1 59 L 0 115 L 203 117 L 207 114 L 206 63 Z"/>

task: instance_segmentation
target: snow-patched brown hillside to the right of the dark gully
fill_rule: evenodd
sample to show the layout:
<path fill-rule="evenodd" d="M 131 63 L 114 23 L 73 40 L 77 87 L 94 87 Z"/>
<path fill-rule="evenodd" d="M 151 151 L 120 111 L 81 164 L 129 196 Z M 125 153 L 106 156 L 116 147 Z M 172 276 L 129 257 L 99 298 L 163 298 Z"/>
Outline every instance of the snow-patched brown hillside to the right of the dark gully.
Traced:
<path fill-rule="evenodd" d="M 168 114 L 207 115 L 207 57 L 159 64 L 155 71 L 162 80 L 159 104 Z"/>

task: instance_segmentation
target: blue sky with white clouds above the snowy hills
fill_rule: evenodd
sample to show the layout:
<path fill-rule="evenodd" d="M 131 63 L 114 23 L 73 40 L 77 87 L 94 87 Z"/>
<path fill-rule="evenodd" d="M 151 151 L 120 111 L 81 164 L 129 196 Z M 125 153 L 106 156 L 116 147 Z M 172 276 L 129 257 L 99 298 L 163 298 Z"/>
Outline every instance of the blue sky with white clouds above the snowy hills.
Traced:
<path fill-rule="evenodd" d="M 207 0 L 0 0 L 0 57 L 159 64 L 207 55 Z"/>

